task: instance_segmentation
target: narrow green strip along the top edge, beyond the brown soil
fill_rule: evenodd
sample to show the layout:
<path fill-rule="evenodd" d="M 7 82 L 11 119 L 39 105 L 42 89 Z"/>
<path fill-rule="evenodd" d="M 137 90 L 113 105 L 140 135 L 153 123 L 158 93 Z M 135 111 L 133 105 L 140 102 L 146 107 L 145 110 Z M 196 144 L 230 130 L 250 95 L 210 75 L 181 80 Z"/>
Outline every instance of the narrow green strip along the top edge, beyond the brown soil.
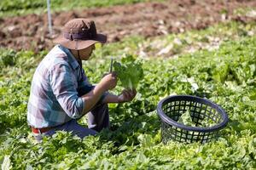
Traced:
<path fill-rule="evenodd" d="M 152 0 L 51 0 L 52 11 L 67 11 L 70 9 L 99 8 L 113 5 L 152 2 Z M 163 0 L 157 0 L 160 2 Z M 0 17 L 24 14 L 42 14 L 47 12 L 46 0 L 1 0 Z"/>

